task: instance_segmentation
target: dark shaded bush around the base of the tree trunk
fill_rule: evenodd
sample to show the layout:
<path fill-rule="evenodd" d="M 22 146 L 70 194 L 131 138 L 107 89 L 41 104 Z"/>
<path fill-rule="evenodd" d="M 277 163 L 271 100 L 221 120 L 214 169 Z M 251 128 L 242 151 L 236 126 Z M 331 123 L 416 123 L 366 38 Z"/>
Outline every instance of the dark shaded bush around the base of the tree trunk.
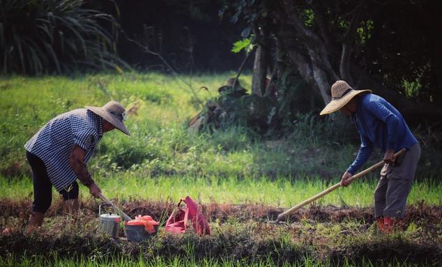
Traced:
<path fill-rule="evenodd" d="M 273 82 L 266 96 L 249 95 L 242 87 L 222 86 L 218 96 L 206 103 L 199 118 L 203 130 L 225 130 L 229 127 L 243 127 L 250 130 L 254 137 L 282 137 L 294 130 L 315 125 L 330 125 L 330 123 L 303 122 L 307 114 L 311 120 L 319 118 L 321 97 L 312 93 L 296 73 L 287 70 L 279 80 Z M 310 94 L 308 101 L 305 96 Z M 313 112 L 312 112 L 313 111 Z M 311 128 L 305 132 L 312 132 Z M 318 131 L 318 133 L 321 130 Z M 321 132 L 321 137 L 324 137 Z M 351 135 L 349 135 L 351 136 Z M 327 138 L 329 139 L 329 138 Z M 331 137 L 333 139 L 333 137 Z M 334 140 L 334 139 L 333 139 Z"/>

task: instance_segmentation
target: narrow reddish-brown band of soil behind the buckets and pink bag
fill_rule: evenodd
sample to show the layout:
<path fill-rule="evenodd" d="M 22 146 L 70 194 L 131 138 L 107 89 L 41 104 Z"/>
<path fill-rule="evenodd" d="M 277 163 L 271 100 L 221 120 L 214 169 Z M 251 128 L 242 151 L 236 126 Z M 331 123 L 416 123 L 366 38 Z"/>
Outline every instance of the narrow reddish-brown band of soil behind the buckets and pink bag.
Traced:
<path fill-rule="evenodd" d="M 113 199 L 117 206 L 130 217 L 135 218 L 136 215 L 151 215 L 154 219 L 160 220 L 165 218 L 174 211 L 176 204 L 168 201 L 148 201 L 148 200 L 128 200 L 119 201 Z M 24 218 L 29 216 L 32 201 L 30 199 L 0 199 L 0 216 L 3 218 L 14 217 Z M 81 208 L 85 213 L 97 214 L 99 203 L 93 200 L 81 201 Z M 247 222 L 250 220 L 271 221 L 277 218 L 277 215 L 284 212 L 284 208 L 275 206 L 264 206 L 259 204 L 200 204 L 204 215 L 209 222 L 223 223 L 229 220 L 238 222 Z M 46 217 L 62 215 L 62 202 L 56 200 L 52 204 Z M 293 213 L 287 222 L 299 222 L 311 220 L 314 222 L 344 222 L 346 220 L 356 220 L 367 224 L 372 224 L 373 208 L 359 207 L 337 207 L 337 206 L 309 206 L 300 208 Z M 429 206 L 424 202 L 416 205 L 410 205 L 407 208 L 404 223 L 410 222 L 425 224 L 441 224 L 442 223 L 442 206 Z"/>

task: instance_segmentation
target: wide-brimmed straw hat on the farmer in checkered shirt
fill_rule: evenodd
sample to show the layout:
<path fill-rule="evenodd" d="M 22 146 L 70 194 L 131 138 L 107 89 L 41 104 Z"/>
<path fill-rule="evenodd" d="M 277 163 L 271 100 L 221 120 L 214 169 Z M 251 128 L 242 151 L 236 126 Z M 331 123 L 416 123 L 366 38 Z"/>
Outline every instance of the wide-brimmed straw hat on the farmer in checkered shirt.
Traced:
<path fill-rule="evenodd" d="M 105 119 L 126 135 L 130 135 L 130 132 L 124 125 L 125 109 L 119 102 L 112 100 L 102 107 L 86 106 L 86 109 L 102 117 L 102 119 Z"/>

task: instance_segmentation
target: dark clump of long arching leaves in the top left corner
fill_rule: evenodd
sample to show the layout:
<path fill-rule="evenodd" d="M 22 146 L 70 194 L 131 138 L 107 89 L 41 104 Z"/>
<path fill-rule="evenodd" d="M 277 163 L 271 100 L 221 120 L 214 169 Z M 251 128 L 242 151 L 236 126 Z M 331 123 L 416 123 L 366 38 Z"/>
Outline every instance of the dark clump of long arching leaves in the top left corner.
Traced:
<path fill-rule="evenodd" d="M 66 73 L 125 66 L 115 54 L 114 17 L 82 8 L 84 0 L 3 0 L 2 73 Z M 108 33 L 102 23 L 112 24 Z"/>

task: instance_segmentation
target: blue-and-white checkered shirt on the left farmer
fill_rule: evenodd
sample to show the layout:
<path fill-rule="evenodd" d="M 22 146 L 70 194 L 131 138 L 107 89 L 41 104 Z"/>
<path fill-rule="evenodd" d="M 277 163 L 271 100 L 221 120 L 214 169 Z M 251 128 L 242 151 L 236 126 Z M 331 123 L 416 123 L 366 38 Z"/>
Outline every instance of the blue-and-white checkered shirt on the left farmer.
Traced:
<path fill-rule="evenodd" d="M 101 137 L 101 117 L 88 109 L 75 109 L 46 123 L 24 148 L 45 162 L 49 180 L 61 191 L 77 179 L 69 160 L 74 144 L 86 151 L 86 163 Z"/>

